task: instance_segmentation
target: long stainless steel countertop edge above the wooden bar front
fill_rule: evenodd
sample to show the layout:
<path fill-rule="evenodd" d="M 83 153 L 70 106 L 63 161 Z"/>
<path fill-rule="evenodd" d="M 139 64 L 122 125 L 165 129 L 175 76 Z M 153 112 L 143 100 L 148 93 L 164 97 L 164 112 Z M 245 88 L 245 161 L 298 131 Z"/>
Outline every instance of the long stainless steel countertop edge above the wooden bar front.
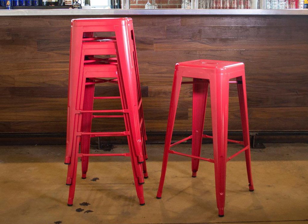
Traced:
<path fill-rule="evenodd" d="M 308 15 L 307 9 L 18 9 L 0 10 L 0 16 L 44 15 Z"/>

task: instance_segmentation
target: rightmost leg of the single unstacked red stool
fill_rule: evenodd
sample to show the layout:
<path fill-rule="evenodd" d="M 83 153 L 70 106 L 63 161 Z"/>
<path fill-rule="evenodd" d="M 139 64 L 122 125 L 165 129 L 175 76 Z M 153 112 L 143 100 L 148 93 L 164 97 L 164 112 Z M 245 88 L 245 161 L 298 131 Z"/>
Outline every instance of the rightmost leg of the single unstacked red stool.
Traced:
<path fill-rule="evenodd" d="M 251 160 L 250 160 L 250 140 L 249 140 L 249 126 L 248 126 L 248 110 L 247 110 L 247 96 L 246 96 L 246 83 L 245 74 L 241 77 L 237 77 L 237 90 L 240 102 L 241 121 L 243 130 L 244 146 L 248 146 L 245 151 L 246 169 L 248 175 L 249 191 L 253 191 L 253 181 L 251 173 Z"/>

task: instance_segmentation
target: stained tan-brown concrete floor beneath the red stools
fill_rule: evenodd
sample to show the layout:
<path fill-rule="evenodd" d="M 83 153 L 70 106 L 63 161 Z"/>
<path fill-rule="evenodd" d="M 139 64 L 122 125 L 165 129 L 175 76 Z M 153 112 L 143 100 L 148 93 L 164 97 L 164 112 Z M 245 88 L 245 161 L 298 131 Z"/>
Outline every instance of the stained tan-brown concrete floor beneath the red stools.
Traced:
<path fill-rule="evenodd" d="M 223 218 L 217 215 L 214 167 L 205 161 L 192 178 L 190 159 L 170 155 L 162 199 L 155 198 L 163 145 L 147 146 L 145 206 L 139 205 L 129 158 L 92 157 L 87 179 L 81 179 L 78 164 L 72 207 L 67 206 L 65 146 L 1 146 L 0 223 L 308 223 L 308 144 L 265 146 L 252 150 L 254 192 L 248 190 L 244 154 L 228 163 Z M 174 148 L 188 153 L 190 147 Z M 213 157 L 211 147 L 204 144 L 202 156 Z M 229 144 L 230 154 L 238 149 Z M 113 149 L 126 150 L 126 145 Z M 99 180 L 91 181 L 95 177 Z"/>

